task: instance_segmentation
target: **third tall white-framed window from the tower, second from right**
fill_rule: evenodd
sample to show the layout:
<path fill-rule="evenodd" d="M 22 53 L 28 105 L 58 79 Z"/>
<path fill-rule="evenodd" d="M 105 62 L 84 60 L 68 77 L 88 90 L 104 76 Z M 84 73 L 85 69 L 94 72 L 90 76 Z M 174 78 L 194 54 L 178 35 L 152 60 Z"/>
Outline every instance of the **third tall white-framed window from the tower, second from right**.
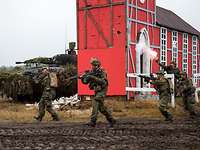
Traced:
<path fill-rule="evenodd" d="M 183 33 L 182 71 L 188 73 L 188 34 Z"/>

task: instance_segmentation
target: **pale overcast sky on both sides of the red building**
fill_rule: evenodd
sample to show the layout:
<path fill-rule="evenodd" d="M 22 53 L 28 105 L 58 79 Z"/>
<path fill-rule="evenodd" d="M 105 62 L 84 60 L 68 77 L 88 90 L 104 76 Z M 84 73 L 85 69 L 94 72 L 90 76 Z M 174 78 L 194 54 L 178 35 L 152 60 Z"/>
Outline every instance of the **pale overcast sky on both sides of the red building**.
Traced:
<path fill-rule="evenodd" d="M 76 41 L 76 0 L 0 0 L 0 66 L 64 53 Z M 200 0 L 157 0 L 200 31 Z"/>

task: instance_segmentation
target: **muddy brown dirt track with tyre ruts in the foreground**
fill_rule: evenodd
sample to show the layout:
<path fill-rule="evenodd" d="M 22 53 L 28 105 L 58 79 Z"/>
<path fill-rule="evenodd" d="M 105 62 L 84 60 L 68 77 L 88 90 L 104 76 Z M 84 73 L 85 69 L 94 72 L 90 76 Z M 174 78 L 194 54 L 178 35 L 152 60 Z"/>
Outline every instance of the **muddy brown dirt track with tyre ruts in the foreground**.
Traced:
<path fill-rule="evenodd" d="M 199 150 L 200 120 L 118 120 L 114 128 L 98 123 L 0 124 L 2 150 Z"/>

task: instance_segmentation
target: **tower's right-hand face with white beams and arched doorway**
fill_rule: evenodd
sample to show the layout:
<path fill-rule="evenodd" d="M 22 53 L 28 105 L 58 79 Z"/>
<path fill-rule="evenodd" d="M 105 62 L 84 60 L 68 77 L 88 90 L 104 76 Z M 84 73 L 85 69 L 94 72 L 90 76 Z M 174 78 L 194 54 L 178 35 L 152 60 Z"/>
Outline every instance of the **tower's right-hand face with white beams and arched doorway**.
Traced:
<path fill-rule="evenodd" d="M 146 2 L 146 5 L 145 5 Z M 140 5 L 145 5 L 141 7 Z M 154 8 L 156 10 L 156 6 Z M 143 11 L 147 15 L 145 20 L 139 19 L 138 12 Z M 130 92 L 133 88 L 138 87 L 141 89 L 141 79 L 135 77 L 136 73 L 149 73 L 150 72 L 150 60 L 147 61 L 145 54 L 141 57 L 141 52 L 136 51 L 136 44 L 140 41 L 145 44 L 146 47 L 150 47 L 149 42 L 149 27 L 156 26 L 156 12 L 149 10 L 148 0 L 126 0 L 126 25 L 127 25 L 127 48 L 126 48 L 126 91 L 127 98 L 130 97 Z M 141 28 L 141 25 L 143 28 Z M 135 35 L 133 35 L 133 31 Z M 140 35 L 138 37 L 138 32 Z M 137 37 L 139 40 L 137 41 Z M 133 39 L 134 38 L 134 39 Z M 136 54 L 136 58 L 133 54 Z M 136 81 L 136 85 L 134 82 Z M 145 89 L 146 91 L 146 89 Z"/>

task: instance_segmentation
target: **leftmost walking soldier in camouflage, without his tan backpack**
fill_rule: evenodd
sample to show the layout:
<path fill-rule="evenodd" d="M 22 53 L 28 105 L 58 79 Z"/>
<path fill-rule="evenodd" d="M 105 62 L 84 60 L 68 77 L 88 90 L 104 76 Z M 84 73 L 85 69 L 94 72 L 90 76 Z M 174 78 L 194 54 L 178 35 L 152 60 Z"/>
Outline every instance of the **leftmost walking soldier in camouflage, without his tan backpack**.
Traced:
<path fill-rule="evenodd" d="M 51 87 L 51 79 L 48 68 L 43 68 L 38 81 L 41 82 L 43 87 L 42 97 L 39 102 L 39 113 L 34 118 L 37 121 L 42 121 L 45 115 L 45 109 L 51 114 L 53 121 L 59 121 L 58 115 L 52 108 L 52 100 L 56 96 L 55 88 Z"/>

